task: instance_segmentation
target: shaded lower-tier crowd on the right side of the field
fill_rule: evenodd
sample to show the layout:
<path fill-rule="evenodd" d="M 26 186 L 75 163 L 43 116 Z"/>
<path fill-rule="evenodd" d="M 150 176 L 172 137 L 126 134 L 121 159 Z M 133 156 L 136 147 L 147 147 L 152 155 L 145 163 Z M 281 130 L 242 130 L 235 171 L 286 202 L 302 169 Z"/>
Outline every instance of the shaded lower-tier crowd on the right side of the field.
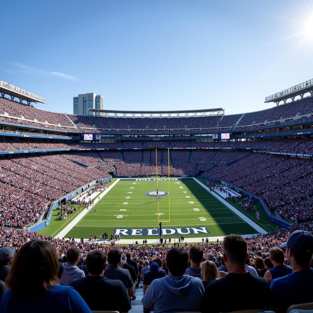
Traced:
<path fill-rule="evenodd" d="M 228 167 L 217 166 L 203 176 L 223 179 L 261 197 L 285 219 L 313 219 L 312 161 L 252 154 Z"/>

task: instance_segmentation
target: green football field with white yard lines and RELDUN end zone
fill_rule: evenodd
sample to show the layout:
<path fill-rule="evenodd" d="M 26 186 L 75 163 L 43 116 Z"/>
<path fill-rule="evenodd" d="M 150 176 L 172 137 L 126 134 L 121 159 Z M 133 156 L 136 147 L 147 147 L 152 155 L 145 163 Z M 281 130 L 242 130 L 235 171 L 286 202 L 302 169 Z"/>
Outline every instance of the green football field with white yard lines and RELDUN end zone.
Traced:
<path fill-rule="evenodd" d="M 252 221 L 244 221 L 193 178 L 170 180 L 170 186 L 164 178 L 157 183 L 163 195 L 159 201 L 155 179 L 120 179 L 65 237 L 86 239 L 91 233 L 99 236 L 107 232 L 110 239 L 111 233 L 121 232 L 121 239 L 140 242 L 159 237 L 159 221 L 163 221 L 163 238 L 171 235 L 172 240 L 181 234 L 206 238 L 259 233 L 250 225 Z"/>

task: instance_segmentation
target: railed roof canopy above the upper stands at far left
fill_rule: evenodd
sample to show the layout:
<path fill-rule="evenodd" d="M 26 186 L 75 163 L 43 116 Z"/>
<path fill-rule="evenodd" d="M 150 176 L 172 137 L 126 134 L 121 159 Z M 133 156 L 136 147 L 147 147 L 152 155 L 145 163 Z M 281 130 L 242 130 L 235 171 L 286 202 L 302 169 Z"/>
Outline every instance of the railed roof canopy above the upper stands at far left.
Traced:
<path fill-rule="evenodd" d="M 0 92 L 2 97 L 4 97 L 4 95 L 9 95 L 12 101 L 14 100 L 14 98 L 18 98 L 20 102 L 25 100 L 28 104 L 30 104 L 31 102 L 46 103 L 46 99 L 44 97 L 33 94 L 28 90 L 19 88 L 16 85 L 12 85 L 3 80 L 0 80 Z"/>

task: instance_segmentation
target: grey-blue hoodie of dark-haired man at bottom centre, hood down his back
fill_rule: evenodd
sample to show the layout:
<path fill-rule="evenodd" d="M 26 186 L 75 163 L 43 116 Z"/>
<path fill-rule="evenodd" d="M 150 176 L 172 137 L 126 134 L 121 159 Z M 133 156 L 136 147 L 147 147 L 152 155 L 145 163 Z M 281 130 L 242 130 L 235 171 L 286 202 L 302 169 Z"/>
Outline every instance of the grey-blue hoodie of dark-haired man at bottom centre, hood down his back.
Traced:
<path fill-rule="evenodd" d="M 145 308 L 154 305 L 154 313 L 201 311 L 204 295 L 202 281 L 189 275 L 153 280 L 141 302 Z"/>

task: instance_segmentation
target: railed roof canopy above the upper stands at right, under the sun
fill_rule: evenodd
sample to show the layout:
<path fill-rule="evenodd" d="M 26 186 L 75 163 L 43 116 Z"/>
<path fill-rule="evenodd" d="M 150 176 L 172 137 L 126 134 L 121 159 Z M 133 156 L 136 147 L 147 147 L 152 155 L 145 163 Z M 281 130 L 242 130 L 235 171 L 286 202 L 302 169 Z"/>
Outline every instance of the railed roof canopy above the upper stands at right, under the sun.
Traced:
<path fill-rule="evenodd" d="M 276 102 L 276 105 L 279 105 L 280 101 L 284 101 L 284 104 L 288 99 L 291 99 L 293 102 L 295 96 L 300 95 L 301 99 L 306 92 L 310 92 L 311 96 L 313 95 L 313 79 L 307 80 L 301 84 L 289 87 L 283 91 L 277 92 L 274 95 L 265 97 L 264 103 L 267 102 Z"/>

